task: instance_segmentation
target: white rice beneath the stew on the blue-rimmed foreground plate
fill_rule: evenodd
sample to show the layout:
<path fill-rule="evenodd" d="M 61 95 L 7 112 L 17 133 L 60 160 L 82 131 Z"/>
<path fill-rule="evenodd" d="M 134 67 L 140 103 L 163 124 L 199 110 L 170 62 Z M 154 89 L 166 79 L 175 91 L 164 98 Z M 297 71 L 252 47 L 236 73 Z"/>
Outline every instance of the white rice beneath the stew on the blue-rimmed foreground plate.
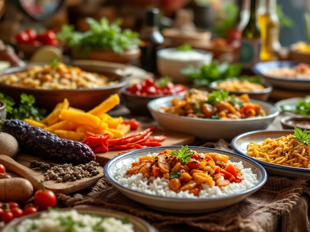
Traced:
<path fill-rule="evenodd" d="M 153 156 L 157 154 L 153 154 Z M 252 172 L 250 168 L 244 168 L 242 161 L 231 162 L 237 168 L 241 169 L 243 180 L 240 183 L 230 183 L 225 187 L 213 186 L 210 187 L 208 184 L 202 184 L 202 190 L 199 192 L 199 196 L 195 196 L 189 191 L 175 191 L 169 188 L 169 180 L 166 178 L 144 178 L 142 173 L 136 175 L 127 174 L 127 170 L 131 168 L 131 163 L 123 165 L 122 168 L 118 169 L 115 173 L 115 180 L 122 186 L 130 188 L 135 191 L 143 192 L 150 195 L 158 195 L 164 197 L 176 197 L 176 198 L 199 198 L 199 197 L 212 197 L 212 196 L 226 196 L 241 191 L 245 191 L 254 187 L 257 183 L 257 176 Z M 151 181 L 149 181 L 151 180 Z"/>

